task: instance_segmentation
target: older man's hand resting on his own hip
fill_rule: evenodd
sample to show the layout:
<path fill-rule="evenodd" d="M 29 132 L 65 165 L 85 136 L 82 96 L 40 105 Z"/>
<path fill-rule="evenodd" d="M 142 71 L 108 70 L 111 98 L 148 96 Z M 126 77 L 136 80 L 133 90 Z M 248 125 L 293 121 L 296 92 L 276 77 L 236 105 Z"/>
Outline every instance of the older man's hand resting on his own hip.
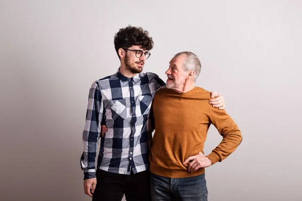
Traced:
<path fill-rule="evenodd" d="M 188 166 L 188 172 L 196 172 L 201 167 L 212 165 L 211 160 L 201 152 L 195 156 L 188 157 L 183 164 L 187 164 L 189 161 L 191 162 Z"/>

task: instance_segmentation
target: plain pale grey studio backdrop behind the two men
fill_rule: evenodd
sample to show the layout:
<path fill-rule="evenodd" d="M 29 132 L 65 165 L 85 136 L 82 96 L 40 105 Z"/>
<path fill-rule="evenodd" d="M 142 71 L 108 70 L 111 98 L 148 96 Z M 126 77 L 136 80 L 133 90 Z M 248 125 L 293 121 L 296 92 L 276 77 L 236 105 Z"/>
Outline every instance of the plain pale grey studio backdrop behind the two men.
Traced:
<path fill-rule="evenodd" d="M 206 168 L 210 201 L 302 200 L 301 1 L 0 1 L 0 200 L 91 200 L 80 156 L 88 92 L 119 67 L 129 24 L 155 41 L 166 80 L 192 51 L 196 82 L 223 94 L 243 142 Z M 192 106 L 193 107 L 193 106 Z M 221 137 L 211 126 L 208 154 Z"/>

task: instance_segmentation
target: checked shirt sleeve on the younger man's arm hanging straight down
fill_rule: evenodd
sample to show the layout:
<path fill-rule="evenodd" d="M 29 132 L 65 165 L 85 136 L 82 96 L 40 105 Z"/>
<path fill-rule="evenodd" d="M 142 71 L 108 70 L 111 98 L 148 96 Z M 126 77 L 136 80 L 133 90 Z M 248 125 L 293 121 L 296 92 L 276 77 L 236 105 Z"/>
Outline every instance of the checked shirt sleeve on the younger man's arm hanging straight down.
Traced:
<path fill-rule="evenodd" d="M 103 98 L 97 82 L 94 82 L 89 91 L 89 100 L 86 113 L 86 123 L 83 131 L 84 151 L 81 157 L 81 168 L 84 170 L 84 179 L 95 178 L 95 161 L 98 141 L 101 134 Z"/>

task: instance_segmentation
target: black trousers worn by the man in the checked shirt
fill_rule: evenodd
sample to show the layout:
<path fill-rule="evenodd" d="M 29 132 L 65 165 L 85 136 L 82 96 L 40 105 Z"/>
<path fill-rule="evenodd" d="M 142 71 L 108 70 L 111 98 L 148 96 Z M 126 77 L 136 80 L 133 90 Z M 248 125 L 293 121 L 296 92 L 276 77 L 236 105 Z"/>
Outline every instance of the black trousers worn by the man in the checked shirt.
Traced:
<path fill-rule="evenodd" d="M 149 170 L 130 175 L 116 174 L 97 169 L 97 186 L 93 201 L 151 200 Z"/>

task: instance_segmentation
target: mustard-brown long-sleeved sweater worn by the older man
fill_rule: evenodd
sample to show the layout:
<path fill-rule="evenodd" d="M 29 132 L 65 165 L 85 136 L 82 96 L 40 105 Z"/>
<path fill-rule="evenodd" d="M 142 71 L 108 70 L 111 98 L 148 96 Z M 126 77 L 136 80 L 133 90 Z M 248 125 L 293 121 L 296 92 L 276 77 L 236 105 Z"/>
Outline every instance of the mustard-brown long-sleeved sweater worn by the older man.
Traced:
<path fill-rule="evenodd" d="M 183 162 L 203 153 L 207 131 L 213 124 L 222 136 L 221 143 L 207 155 L 212 164 L 228 157 L 242 141 L 242 135 L 224 110 L 209 105 L 210 92 L 195 87 L 186 93 L 160 89 L 152 103 L 155 134 L 150 150 L 150 171 L 171 178 L 192 177 L 204 168 L 188 172 Z"/>

